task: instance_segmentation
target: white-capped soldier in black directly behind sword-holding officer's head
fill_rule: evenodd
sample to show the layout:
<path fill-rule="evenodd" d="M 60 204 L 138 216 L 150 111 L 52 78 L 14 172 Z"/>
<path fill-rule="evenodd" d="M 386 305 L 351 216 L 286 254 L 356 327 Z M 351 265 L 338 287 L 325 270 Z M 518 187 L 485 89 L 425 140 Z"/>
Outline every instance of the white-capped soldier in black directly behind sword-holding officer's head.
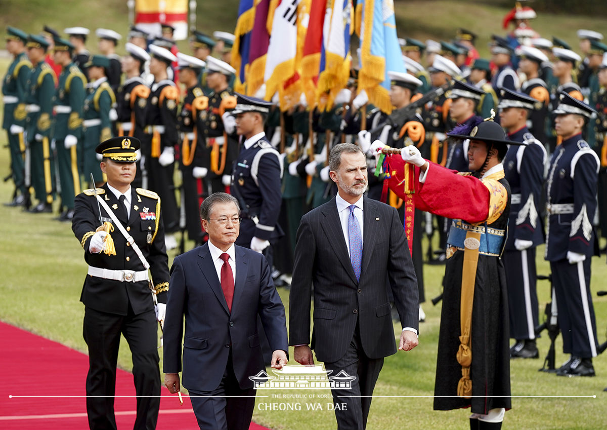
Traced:
<path fill-rule="evenodd" d="M 122 59 L 124 83 L 116 95 L 118 134 L 140 138 L 145 126 L 145 109 L 150 89 L 143 79 L 145 65 L 150 60 L 146 50 L 127 43 L 127 55 Z"/>

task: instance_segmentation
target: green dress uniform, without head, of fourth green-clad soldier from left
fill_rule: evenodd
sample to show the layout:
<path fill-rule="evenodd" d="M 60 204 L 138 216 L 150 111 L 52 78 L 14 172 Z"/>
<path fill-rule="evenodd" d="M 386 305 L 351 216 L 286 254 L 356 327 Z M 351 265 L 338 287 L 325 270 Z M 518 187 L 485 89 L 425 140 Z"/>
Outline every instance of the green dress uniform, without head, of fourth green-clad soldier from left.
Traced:
<path fill-rule="evenodd" d="M 87 89 L 88 93 L 84 98 L 84 145 L 80 158 L 80 171 L 87 179 L 92 173 L 95 182 L 101 182 L 101 168 L 95 155 L 95 148 L 104 140 L 112 137 L 110 109 L 116 102 L 116 98 L 106 77 L 89 83 Z"/>

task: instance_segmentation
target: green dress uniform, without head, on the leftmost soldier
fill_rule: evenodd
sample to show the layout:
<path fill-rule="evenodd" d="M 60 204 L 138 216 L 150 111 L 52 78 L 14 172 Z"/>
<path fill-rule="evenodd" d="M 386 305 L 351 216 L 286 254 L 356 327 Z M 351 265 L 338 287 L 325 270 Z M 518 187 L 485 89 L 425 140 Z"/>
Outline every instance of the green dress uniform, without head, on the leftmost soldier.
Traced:
<path fill-rule="evenodd" d="M 24 182 L 23 152 L 25 142 L 23 132 L 13 134 L 10 126 L 16 125 L 21 128 L 25 126 L 25 97 L 28 92 L 27 81 L 30 75 L 32 63 L 24 52 L 15 56 L 8 66 L 4 80 L 2 81 L 2 95 L 4 96 L 4 119 L 2 128 L 8 133 L 8 148 L 10 149 L 10 169 L 15 182 L 15 188 L 25 196 L 27 188 Z"/>

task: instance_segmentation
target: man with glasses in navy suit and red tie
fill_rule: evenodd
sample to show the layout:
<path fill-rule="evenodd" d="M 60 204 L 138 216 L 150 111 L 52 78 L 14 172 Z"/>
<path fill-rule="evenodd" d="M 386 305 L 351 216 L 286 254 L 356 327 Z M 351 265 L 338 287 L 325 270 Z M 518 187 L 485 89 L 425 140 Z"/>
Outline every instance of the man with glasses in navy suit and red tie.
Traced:
<path fill-rule="evenodd" d="M 257 315 L 273 350 L 271 366 L 282 369 L 288 350 L 285 308 L 266 259 L 234 244 L 240 230 L 236 198 L 211 194 L 200 217 L 209 241 L 177 256 L 171 267 L 164 385 L 179 391 L 183 370 L 201 429 L 247 429 L 256 392 L 249 377 L 264 369 Z"/>

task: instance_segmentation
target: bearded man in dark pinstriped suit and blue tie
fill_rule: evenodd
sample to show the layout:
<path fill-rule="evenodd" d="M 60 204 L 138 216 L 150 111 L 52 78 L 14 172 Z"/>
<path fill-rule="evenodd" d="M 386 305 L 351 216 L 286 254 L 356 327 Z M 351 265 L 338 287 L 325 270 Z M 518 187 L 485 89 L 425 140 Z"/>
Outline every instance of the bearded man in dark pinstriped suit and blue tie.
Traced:
<path fill-rule="evenodd" d="M 332 389 L 334 403 L 347 403 L 335 409 L 337 428 L 364 429 L 384 357 L 396 353 L 388 288 L 404 327 L 398 349 L 405 351 L 418 344 L 418 288 L 398 213 L 363 196 L 367 163 L 361 149 L 336 145 L 329 165 L 337 196 L 306 214 L 297 230 L 290 345 L 298 363 L 314 364 L 308 346 L 314 286 L 311 348 L 333 375 L 343 370 L 357 376 L 351 389 Z"/>

